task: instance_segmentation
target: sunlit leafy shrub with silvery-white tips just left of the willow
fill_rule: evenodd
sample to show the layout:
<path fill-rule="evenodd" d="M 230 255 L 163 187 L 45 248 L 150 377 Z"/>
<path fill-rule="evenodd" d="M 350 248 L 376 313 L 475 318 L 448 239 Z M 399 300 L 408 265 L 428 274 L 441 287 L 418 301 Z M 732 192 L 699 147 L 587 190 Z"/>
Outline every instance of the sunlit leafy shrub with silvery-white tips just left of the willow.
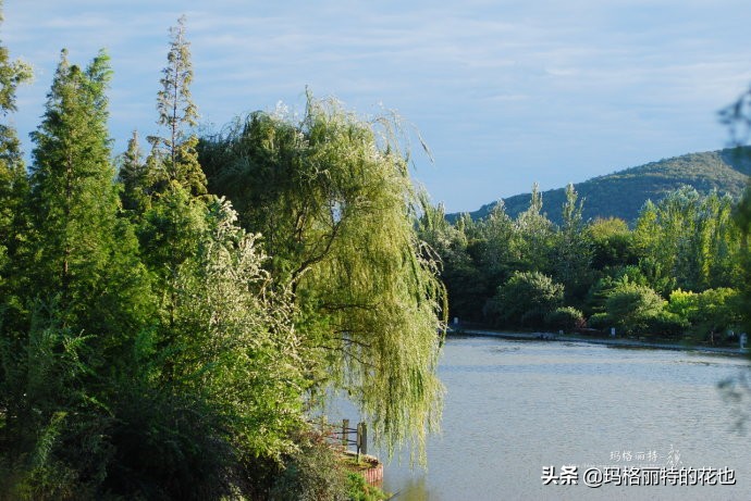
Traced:
<path fill-rule="evenodd" d="M 178 272 L 171 377 L 236 419 L 235 447 L 279 456 L 304 421 L 304 373 L 313 362 L 303 356 L 291 298 L 268 287 L 255 236 L 235 225 L 229 202 L 209 211 L 199 253 Z"/>

